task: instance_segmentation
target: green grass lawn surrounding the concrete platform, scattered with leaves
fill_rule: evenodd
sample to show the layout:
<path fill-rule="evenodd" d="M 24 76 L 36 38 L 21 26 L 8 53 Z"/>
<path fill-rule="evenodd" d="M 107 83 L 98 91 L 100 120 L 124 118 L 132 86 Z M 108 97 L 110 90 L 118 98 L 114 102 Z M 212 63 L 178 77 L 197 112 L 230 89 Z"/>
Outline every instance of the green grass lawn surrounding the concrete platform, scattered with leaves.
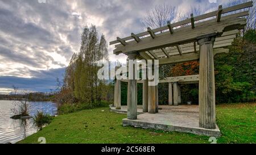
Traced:
<path fill-rule="evenodd" d="M 256 103 L 222 104 L 216 107 L 222 136 L 217 143 L 256 143 Z M 57 116 L 42 131 L 19 143 L 209 143 L 207 136 L 123 127 L 125 114 L 108 107 Z"/>

